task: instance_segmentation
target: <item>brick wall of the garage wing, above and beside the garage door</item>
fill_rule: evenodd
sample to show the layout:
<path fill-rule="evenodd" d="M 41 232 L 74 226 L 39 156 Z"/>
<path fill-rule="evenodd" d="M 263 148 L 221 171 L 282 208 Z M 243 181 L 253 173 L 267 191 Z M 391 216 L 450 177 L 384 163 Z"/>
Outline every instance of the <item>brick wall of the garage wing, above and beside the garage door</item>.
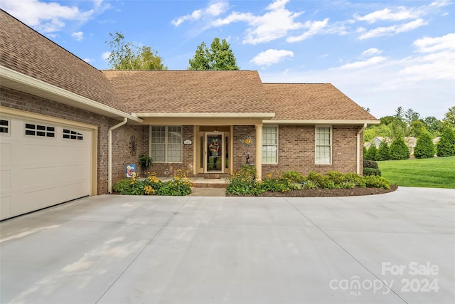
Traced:
<path fill-rule="evenodd" d="M 80 110 L 63 105 L 53 100 L 40 98 L 35 95 L 22 93 L 18 90 L 9 88 L 0 88 L 0 105 L 5 107 L 34 112 L 38 114 L 84 122 L 90 125 L 98 126 L 98 155 L 97 155 L 97 192 L 98 194 L 107 193 L 107 130 L 119 121 L 110 119 L 92 112 Z M 70 124 L 70 122 L 68 122 Z M 137 163 L 136 158 L 129 154 L 129 139 L 132 135 L 138 139 L 138 153 L 143 150 L 142 147 L 142 126 L 125 125 L 112 132 L 112 181 L 113 183 L 120 178 L 125 177 L 124 164 Z M 147 142 L 148 147 L 148 142 Z M 147 148 L 148 149 L 148 148 Z M 124 159 L 124 160 L 122 160 Z"/>

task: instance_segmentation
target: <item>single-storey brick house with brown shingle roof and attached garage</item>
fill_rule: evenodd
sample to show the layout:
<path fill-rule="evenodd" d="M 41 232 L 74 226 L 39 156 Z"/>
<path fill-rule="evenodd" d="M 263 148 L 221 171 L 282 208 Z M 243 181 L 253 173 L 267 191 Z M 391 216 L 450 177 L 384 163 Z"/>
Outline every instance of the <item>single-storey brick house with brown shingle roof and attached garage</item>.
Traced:
<path fill-rule="evenodd" d="M 106 194 L 140 154 L 158 176 L 276 170 L 362 173 L 378 123 L 329 83 L 257 71 L 97 70 L 0 13 L 0 219 Z M 248 145 L 250 144 L 250 145 Z"/>

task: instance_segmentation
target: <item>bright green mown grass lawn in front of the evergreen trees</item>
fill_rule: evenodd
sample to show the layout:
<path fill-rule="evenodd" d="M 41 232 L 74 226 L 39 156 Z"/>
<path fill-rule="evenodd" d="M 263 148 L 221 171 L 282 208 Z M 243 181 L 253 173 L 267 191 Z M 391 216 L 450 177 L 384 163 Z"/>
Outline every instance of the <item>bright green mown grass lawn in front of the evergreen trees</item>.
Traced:
<path fill-rule="evenodd" d="M 455 157 L 378 162 L 382 177 L 403 187 L 455 188 Z"/>

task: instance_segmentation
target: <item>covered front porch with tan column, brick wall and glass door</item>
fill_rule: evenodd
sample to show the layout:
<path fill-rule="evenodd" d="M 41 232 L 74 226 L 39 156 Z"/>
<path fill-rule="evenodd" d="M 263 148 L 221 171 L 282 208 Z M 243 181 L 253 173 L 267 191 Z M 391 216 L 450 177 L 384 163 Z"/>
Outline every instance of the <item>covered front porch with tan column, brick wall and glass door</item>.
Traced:
<path fill-rule="evenodd" d="M 262 179 L 263 120 L 272 119 L 274 113 L 135 114 L 143 119 L 141 125 L 149 127 L 149 155 L 154 158 L 153 169 L 158 176 L 166 177 L 183 169 L 192 177 L 225 179 L 248 163 L 256 166 L 257 179 Z M 181 132 L 173 135 L 166 126 L 181 127 Z M 162 141 L 168 142 L 168 137 L 172 137 L 181 143 L 180 161 L 156 161 L 157 127 L 164 133 Z"/>

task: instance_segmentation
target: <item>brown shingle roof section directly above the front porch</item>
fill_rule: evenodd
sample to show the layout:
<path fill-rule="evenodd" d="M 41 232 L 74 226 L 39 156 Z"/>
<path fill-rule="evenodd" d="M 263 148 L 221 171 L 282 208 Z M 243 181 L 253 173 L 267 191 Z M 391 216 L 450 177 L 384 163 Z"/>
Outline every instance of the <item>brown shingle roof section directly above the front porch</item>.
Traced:
<path fill-rule="evenodd" d="M 132 112 L 273 112 L 257 71 L 103 70 Z"/>

